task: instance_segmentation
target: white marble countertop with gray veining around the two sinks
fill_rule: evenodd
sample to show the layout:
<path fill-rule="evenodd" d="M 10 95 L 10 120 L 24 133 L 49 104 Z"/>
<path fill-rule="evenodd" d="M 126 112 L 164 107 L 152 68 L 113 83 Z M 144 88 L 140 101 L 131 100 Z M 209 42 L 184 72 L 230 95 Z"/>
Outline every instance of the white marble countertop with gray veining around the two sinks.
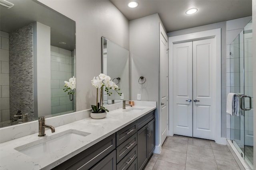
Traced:
<path fill-rule="evenodd" d="M 126 125 L 129 125 L 133 121 L 136 121 L 140 117 L 146 115 L 150 111 L 156 109 L 156 106 L 134 106 L 136 108 L 145 108 L 136 113 L 125 112 L 122 108 L 110 111 L 107 113 L 104 119 L 92 119 L 86 118 L 66 125 L 62 125 L 55 128 L 55 133 L 51 133 L 50 129 L 45 131 L 45 137 L 38 137 L 38 133 L 32 135 L 27 135 L 7 141 L 0 144 L 0 169 L 1 170 L 17 170 L 17 169 L 27 169 L 27 170 L 40 170 L 40 169 L 51 169 L 58 164 L 72 158 L 76 154 L 88 149 L 92 145 L 98 143 L 102 139 L 105 139 L 109 135 L 115 133 L 116 131 L 122 129 Z M 126 107 L 126 109 L 129 109 Z M 46 120 L 47 124 L 47 120 Z M 14 148 L 20 147 L 27 143 L 37 141 L 42 138 L 50 137 L 56 133 L 61 133 L 63 131 L 75 129 L 78 131 L 83 131 L 90 133 L 90 135 L 85 136 L 82 140 L 76 142 L 74 147 L 68 150 L 61 150 L 60 152 L 54 152 L 51 154 L 40 155 L 30 157 Z M 60 144 L 61 145 L 61 144 Z M 65 147 L 65 146 L 63 146 Z"/>

